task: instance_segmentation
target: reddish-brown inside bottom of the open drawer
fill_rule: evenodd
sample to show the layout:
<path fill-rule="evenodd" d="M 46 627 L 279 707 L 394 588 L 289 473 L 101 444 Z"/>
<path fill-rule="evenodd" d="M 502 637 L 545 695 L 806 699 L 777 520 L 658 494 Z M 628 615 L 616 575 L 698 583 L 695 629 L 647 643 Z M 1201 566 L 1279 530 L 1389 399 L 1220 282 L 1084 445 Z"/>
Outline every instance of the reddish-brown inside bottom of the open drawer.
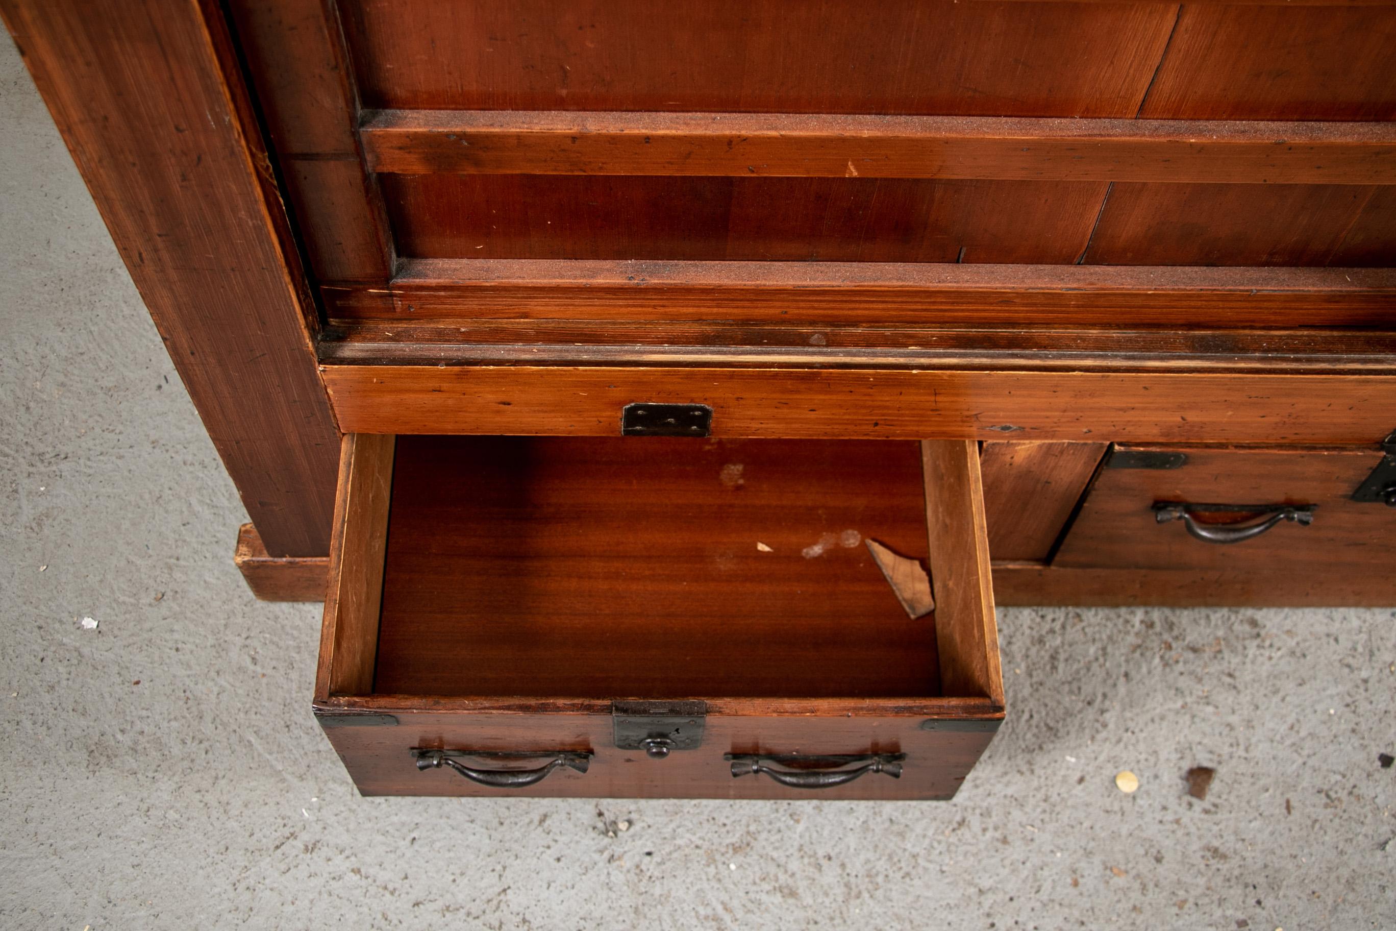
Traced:
<path fill-rule="evenodd" d="M 938 695 L 864 539 L 926 558 L 914 442 L 403 435 L 374 691 Z"/>

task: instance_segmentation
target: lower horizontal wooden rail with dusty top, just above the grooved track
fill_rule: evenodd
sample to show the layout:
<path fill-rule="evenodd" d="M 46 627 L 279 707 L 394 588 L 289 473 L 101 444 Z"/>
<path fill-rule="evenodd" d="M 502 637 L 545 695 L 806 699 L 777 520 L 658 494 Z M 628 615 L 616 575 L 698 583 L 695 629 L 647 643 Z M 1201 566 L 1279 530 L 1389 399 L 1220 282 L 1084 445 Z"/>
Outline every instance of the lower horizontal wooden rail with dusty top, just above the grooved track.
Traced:
<path fill-rule="evenodd" d="M 332 321 L 1396 325 L 1396 269 L 413 260 L 327 285 Z"/>

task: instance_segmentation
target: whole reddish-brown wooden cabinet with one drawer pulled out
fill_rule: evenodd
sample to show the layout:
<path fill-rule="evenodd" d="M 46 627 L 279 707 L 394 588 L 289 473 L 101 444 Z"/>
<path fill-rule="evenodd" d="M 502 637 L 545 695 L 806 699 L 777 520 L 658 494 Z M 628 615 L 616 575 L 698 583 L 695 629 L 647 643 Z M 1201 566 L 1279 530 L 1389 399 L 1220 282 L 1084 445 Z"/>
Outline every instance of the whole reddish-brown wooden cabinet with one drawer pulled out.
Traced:
<path fill-rule="evenodd" d="M 1396 604 L 1393 3 L 0 13 L 364 791 L 942 797 L 995 596 Z"/>

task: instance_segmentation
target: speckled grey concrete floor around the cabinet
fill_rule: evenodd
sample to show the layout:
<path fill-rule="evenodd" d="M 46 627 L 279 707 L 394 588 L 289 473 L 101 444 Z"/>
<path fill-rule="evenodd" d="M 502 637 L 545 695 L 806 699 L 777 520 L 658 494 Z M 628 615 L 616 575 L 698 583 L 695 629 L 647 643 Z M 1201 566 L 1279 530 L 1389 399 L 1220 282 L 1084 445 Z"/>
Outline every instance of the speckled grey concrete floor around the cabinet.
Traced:
<path fill-rule="evenodd" d="M 360 798 L 7 39 L 0 219 L 3 927 L 1396 927 L 1390 610 L 1000 611 L 951 803 Z"/>

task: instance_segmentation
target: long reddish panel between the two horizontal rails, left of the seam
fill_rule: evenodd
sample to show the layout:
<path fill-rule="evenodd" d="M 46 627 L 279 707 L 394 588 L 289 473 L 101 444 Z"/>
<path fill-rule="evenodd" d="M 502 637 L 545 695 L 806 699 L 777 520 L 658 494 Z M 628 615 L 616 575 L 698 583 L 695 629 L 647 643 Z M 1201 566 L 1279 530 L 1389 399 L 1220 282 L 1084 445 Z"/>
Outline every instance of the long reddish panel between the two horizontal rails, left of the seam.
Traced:
<path fill-rule="evenodd" d="M 1103 183 L 389 174 L 416 258 L 1074 262 Z"/>

